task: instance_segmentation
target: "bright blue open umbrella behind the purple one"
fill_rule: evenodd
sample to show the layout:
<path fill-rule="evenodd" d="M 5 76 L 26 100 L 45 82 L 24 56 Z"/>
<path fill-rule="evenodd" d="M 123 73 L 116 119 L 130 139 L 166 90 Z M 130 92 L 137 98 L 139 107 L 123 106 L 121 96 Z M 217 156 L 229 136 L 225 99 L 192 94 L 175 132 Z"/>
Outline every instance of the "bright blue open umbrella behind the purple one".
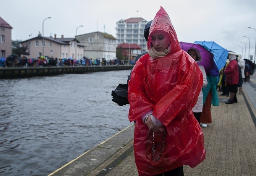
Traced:
<path fill-rule="evenodd" d="M 217 65 L 219 70 L 226 65 L 226 60 L 228 57 L 227 49 L 219 46 L 219 44 L 215 43 L 214 41 L 195 41 L 194 43 L 201 44 L 213 54 L 214 63 Z"/>

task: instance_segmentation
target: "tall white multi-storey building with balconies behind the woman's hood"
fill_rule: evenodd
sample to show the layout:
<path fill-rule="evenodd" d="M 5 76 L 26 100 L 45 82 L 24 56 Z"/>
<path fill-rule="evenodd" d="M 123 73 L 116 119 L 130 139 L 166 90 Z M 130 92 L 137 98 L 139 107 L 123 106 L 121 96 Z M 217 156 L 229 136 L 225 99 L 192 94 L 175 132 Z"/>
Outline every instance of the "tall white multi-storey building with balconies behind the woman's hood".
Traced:
<path fill-rule="evenodd" d="M 147 24 L 144 18 L 128 18 L 126 20 L 120 19 L 116 22 L 115 28 L 117 33 L 117 44 L 121 43 L 137 43 L 141 46 L 141 51 L 147 51 L 147 42 L 144 38 L 144 28 Z"/>

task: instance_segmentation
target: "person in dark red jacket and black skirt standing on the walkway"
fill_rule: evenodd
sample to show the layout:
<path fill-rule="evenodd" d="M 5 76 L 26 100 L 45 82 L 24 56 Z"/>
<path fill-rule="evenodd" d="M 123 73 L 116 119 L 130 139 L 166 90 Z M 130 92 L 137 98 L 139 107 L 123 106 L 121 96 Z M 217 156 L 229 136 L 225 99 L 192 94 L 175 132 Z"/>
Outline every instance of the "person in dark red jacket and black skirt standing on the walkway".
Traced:
<path fill-rule="evenodd" d="M 228 54 L 228 59 L 230 62 L 224 70 L 226 74 L 226 85 L 227 89 L 230 92 L 229 99 L 225 102 L 226 104 L 233 104 L 233 99 L 237 93 L 237 86 L 239 82 L 239 72 L 238 72 L 238 63 L 237 55 Z"/>

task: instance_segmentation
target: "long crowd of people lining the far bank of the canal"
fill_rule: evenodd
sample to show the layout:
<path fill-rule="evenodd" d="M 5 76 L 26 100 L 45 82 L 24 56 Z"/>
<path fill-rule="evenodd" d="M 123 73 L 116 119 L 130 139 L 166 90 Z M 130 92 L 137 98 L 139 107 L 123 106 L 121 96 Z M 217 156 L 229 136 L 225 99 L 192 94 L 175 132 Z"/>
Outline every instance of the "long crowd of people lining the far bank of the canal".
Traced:
<path fill-rule="evenodd" d="M 126 60 L 120 59 L 89 59 L 82 57 L 81 59 L 73 58 L 53 58 L 53 57 L 18 57 L 7 56 L 0 58 L 0 67 L 64 67 L 64 66 L 97 66 L 97 65 L 127 65 Z"/>

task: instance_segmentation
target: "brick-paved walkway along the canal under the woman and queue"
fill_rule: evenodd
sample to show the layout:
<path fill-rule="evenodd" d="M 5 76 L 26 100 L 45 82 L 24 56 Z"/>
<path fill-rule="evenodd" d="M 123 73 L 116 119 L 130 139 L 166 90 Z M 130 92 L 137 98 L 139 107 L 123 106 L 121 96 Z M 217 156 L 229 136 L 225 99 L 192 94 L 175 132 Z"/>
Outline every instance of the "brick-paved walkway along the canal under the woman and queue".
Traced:
<path fill-rule="evenodd" d="M 243 88 L 238 103 L 232 105 L 224 103 L 228 97 L 219 95 L 220 105 L 212 106 L 212 123 L 203 128 L 206 159 L 195 168 L 184 166 L 185 176 L 256 176 L 256 76 Z M 138 176 L 133 140 L 126 142 L 99 166 L 75 175 Z"/>

